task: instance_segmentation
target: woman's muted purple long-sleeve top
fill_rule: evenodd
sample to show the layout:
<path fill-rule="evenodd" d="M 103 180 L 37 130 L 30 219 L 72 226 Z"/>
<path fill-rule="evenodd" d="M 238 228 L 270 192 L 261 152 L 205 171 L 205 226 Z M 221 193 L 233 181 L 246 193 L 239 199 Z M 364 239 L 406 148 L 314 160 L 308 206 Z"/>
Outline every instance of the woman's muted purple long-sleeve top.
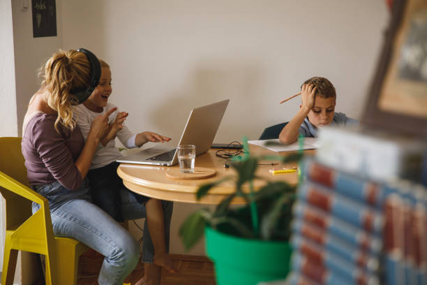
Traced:
<path fill-rule="evenodd" d="M 78 126 L 73 131 L 59 124 L 57 115 L 37 113 L 27 122 L 22 134 L 22 154 L 25 158 L 31 185 L 59 181 L 70 191 L 80 188 L 83 177 L 75 166 L 84 147 L 84 138 Z"/>

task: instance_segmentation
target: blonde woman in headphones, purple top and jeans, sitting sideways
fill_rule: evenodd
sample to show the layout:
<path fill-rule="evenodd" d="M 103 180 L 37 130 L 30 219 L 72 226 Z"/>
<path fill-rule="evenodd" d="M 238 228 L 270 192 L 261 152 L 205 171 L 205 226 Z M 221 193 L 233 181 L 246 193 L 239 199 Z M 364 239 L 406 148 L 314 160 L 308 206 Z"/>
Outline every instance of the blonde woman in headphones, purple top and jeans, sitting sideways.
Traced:
<path fill-rule="evenodd" d="M 49 202 L 54 235 L 80 240 L 105 256 L 99 284 L 122 284 L 140 257 L 136 240 L 93 205 L 86 175 L 108 116 L 96 117 L 86 142 L 73 119 L 73 105 L 98 85 L 100 64 L 88 50 L 54 53 L 38 92 L 31 97 L 22 128 L 22 154 L 31 188 Z M 40 205 L 33 203 L 33 213 Z"/>

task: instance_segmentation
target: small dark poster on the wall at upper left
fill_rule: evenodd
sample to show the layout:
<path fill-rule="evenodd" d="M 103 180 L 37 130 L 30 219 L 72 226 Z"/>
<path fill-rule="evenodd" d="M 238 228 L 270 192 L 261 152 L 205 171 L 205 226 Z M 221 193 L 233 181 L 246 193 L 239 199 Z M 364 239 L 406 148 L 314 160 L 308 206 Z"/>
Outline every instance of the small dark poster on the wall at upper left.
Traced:
<path fill-rule="evenodd" d="M 57 36 L 57 6 L 55 0 L 31 0 L 33 37 Z"/>

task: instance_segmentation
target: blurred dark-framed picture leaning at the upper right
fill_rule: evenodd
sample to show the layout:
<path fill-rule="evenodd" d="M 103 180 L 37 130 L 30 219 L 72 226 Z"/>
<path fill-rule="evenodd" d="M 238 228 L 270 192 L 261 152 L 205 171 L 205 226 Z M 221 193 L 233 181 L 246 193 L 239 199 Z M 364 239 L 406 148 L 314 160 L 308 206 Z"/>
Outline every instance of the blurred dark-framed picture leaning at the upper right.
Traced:
<path fill-rule="evenodd" d="M 427 1 L 394 0 L 364 123 L 427 136 Z"/>

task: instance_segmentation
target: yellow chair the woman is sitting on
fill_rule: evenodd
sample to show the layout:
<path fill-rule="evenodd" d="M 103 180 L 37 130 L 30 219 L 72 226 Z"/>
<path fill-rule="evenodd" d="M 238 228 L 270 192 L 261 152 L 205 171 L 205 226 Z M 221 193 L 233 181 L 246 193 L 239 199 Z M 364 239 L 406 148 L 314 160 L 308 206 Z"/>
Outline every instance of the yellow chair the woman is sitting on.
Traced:
<path fill-rule="evenodd" d="M 28 187 L 21 138 L 0 138 L 0 192 L 6 199 L 6 240 L 1 284 L 13 284 L 17 252 L 45 255 L 46 284 L 75 285 L 79 256 L 89 247 L 54 237 L 47 199 Z M 41 205 L 31 214 L 31 202 Z"/>

